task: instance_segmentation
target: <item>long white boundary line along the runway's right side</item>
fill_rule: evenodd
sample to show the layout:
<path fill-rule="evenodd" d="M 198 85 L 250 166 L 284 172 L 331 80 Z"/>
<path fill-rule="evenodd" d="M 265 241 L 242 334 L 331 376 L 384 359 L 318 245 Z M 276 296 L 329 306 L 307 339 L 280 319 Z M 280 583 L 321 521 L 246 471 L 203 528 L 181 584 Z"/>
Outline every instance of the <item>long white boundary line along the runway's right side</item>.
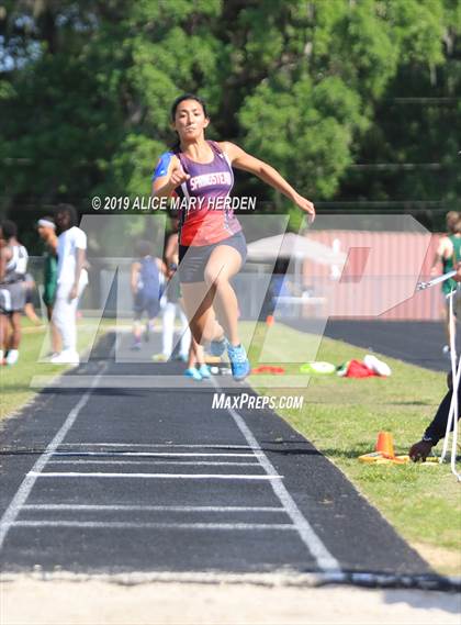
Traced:
<path fill-rule="evenodd" d="M 220 386 L 217 384 L 214 376 L 212 376 L 212 381 L 214 387 L 220 390 Z M 248 445 L 254 449 L 255 454 L 258 455 L 259 461 L 263 467 L 265 471 L 270 477 L 276 477 L 279 473 L 277 472 L 274 466 L 262 451 L 261 446 L 259 445 L 258 440 L 256 439 L 255 435 L 250 431 L 250 428 L 245 423 L 244 418 L 236 412 L 233 408 L 227 409 L 231 416 L 234 418 L 238 429 L 245 436 Z M 281 504 L 286 511 L 286 514 L 292 520 L 295 528 L 297 529 L 302 542 L 307 547 L 312 556 L 315 558 L 318 567 L 328 573 L 341 573 L 341 568 L 338 560 L 328 551 L 326 546 L 323 544 L 321 538 L 314 532 L 314 528 L 302 514 L 301 510 L 297 507 L 294 499 L 291 496 L 289 491 L 286 490 L 285 486 L 282 483 L 281 480 L 273 480 L 271 481 L 271 486 L 273 492 L 279 498 Z"/>

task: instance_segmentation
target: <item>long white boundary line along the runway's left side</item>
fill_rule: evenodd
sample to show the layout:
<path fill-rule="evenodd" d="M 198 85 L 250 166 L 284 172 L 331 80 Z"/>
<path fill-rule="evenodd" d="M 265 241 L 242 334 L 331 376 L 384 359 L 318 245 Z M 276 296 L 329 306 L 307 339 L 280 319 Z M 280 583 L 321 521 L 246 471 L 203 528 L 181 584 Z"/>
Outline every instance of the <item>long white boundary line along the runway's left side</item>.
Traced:
<path fill-rule="evenodd" d="M 0 520 L 0 549 L 4 543 L 4 539 L 8 535 L 10 527 L 15 522 L 15 520 L 16 520 L 20 511 L 21 511 L 21 507 L 24 505 L 31 490 L 34 488 L 34 484 L 35 484 L 37 477 L 41 475 L 41 472 L 45 468 L 46 464 L 48 462 L 49 458 L 53 456 L 53 454 L 56 451 L 56 449 L 59 447 L 59 445 L 61 445 L 64 438 L 66 437 L 67 433 L 69 432 L 69 429 L 74 425 L 74 423 L 75 423 L 76 418 L 78 417 L 78 415 L 80 414 L 80 411 L 82 410 L 82 408 L 85 408 L 85 405 L 87 404 L 93 389 L 97 387 L 99 380 L 101 379 L 101 377 L 104 373 L 108 366 L 109 366 L 109 361 L 106 361 L 103 365 L 100 372 L 93 378 L 91 387 L 80 398 L 77 405 L 75 408 L 72 408 L 72 410 L 69 412 L 69 414 L 66 417 L 66 421 L 63 423 L 63 425 L 60 426 L 60 428 L 58 429 L 58 432 L 56 433 L 54 438 L 47 445 L 45 451 L 37 459 L 35 465 L 33 466 L 32 470 L 29 471 L 29 473 L 23 479 L 23 481 L 22 481 L 20 488 L 18 489 L 15 495 L 11 500 L 10 505 L 7 507 L 7 510 L 4 511 L 4 513 Z"/>

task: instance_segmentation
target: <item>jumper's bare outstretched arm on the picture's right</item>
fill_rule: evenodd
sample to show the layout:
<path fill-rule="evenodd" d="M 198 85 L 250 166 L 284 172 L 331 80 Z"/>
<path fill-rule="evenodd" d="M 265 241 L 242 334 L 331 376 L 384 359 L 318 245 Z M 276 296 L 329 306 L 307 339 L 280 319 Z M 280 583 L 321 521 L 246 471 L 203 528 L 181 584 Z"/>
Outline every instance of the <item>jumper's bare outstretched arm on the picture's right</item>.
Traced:
<path fill-rule="evenodd" d="M 277 169 L 263 160 L 259 160 L 259 158 L 255 158 L 250 154 L 247 154 L 241 149 L 241 147 L 238 147 L 234 143 L 222 142 L 220 146 L 229 157 L 233 167 L 255 174 L 255 176 L 258 176 L 258 178 L 263 182 L 267 182 L 286 196 L 286 198 L 292 200 L 302 211 L 310 213 L 312 217 L 315 216 L 314 204 L 306 198 L 300 196 L 300 193 L 297 193 L 297 191 L 293 189 L 293 187 L 286 182 L 282 176 L 280 176 Z"/>

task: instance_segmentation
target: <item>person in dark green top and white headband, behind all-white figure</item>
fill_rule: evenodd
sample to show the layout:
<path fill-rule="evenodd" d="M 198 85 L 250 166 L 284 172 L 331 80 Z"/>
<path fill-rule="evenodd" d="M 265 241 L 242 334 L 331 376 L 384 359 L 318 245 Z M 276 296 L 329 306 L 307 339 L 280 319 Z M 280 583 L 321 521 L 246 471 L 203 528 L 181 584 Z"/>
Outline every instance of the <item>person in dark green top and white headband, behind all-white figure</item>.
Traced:
<path fill-rule="evenodd" d="M 53 356 L 61 350 L 61 341 L 55 323 L 53 322 L 53 308 L 55 305 L 57 290 L 57 245 L 56 224 L 53 217 L 43 217 L 37 223 L 38 236 L 45 244 L 44 275 L 43 275 L 43 302 L 46 306 L 46 315 L 49 322 L 52 335 Z"/>

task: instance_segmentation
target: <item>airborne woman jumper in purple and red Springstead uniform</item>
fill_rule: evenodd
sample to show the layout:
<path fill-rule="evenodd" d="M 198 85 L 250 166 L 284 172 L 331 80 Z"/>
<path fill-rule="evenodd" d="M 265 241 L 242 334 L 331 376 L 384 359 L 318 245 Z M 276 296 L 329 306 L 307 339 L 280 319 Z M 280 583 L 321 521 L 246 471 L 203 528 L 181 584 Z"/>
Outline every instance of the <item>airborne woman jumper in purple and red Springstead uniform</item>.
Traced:
<path fill-rule="evenodd" d="M 227 348 L 234 379 L 239 381 L 248 376 L 250 365 L 238 334 L 238 304 L 231 279 L 243 267 L 247 247 L 233 211 L 216 210 L 216 199 L 229 196 L 234 167 L 258 176 L 311 219 L 315 209 L 270 165 L 233 143 L 206 141 L 209 124 L 201 98 L 185 93 L 175 100 L 171 126 L 178 141 L 160 156 L 153 175 L 153 196 L 170 197 L 175 192 L 188 205 L 181 211 L 179 230 L 179 278 L 185 313 L 199 344 L 211 342 L 215 356 Z"/>

